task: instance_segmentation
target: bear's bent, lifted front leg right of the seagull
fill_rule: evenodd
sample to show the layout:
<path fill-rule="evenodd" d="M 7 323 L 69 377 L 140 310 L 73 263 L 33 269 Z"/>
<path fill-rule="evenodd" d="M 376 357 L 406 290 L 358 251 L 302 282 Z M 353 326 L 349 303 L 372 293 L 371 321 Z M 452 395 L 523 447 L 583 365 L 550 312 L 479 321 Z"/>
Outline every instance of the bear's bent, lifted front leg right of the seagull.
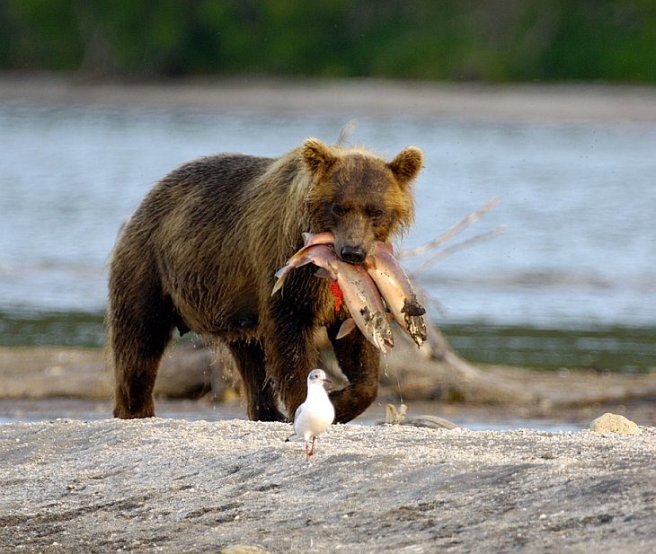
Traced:
<path fill-rule="evenodd" d="M 349 378 L 349 385 L 331 392 L 330 398 L 335 407 L 335 423 L 346 423 L 357 418 L 376 400 L 380 355 L 359 330 L 335 339 L 340 325 L 341 321 L 337 321 L 328 328 L 328 338 L 341 372 Z"/>

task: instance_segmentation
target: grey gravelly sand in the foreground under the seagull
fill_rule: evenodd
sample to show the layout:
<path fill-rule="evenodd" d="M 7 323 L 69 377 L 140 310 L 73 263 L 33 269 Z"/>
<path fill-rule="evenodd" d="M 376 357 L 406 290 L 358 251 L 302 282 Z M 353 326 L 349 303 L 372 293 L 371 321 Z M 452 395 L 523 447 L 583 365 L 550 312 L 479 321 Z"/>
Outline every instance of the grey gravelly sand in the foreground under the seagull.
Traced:
<path fill-rule="evenodd" d="M 2 552 L 647 552 L 656 430 L 0 425 Z M 236 545 L 261 550 L 236 550 Z"/>

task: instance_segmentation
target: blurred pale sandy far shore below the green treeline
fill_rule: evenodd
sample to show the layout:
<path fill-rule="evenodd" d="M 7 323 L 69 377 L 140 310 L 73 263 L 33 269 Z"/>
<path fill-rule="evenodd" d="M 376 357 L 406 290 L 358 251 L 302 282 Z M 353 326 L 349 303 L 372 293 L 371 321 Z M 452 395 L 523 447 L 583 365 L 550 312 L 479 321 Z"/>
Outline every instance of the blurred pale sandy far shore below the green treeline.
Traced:
<path fill-rule="evenodd" d="M 439 84 L 377 79 L 208 78 L 164 83 L 0 74 L 0 101 L 154 109 L 339 113 L 499 120 L 656 122 L 656 89 L 605 84 Z"/>

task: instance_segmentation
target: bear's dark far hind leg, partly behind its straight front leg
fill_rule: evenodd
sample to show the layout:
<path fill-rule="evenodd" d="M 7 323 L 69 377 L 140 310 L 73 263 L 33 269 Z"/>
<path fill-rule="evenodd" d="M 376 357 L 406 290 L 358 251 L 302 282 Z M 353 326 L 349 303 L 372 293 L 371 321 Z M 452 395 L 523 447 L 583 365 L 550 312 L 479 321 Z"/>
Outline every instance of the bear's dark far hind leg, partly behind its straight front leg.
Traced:
<path fill-rule="evenodd" d="M 253 421 L 285 421 L 276 406 L 273 383 L 267 378 L 262 344 L 256 340 L 236 340 L 229 347 L 244 383 L 248 418 Z"/>

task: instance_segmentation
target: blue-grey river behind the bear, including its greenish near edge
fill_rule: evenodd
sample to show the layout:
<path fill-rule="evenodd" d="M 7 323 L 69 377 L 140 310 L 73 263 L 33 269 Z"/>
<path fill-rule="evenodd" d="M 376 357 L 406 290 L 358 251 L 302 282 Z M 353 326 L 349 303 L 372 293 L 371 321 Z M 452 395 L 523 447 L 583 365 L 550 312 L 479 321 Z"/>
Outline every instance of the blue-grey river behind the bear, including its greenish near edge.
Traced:
<path fill-rule="evenodd" d="M 338 115 L 0 105 L 0 344 L 102 342 L 116 233 L 176 165 L 225 151 L 277 156 L 306 136 L 334 142 L 344 123 Z M 453 330 L 458 347 L 548 361 L 556 337 L 556 350 L 590 351 L 581 364 L 604 351 L 620 354 L 610 365 L 653 365 L 656 126 L 390 114 L 359 119 L 351 142 L 388 157 L 410 144 L 426 154 L 416 224 L 402 248 L 500 198 L 455 242 L 500 225 L 505 233 L 417 276 L 439 301 L 432 319 Z M 424 260 L 404 263 L 412 271 Z"/>

